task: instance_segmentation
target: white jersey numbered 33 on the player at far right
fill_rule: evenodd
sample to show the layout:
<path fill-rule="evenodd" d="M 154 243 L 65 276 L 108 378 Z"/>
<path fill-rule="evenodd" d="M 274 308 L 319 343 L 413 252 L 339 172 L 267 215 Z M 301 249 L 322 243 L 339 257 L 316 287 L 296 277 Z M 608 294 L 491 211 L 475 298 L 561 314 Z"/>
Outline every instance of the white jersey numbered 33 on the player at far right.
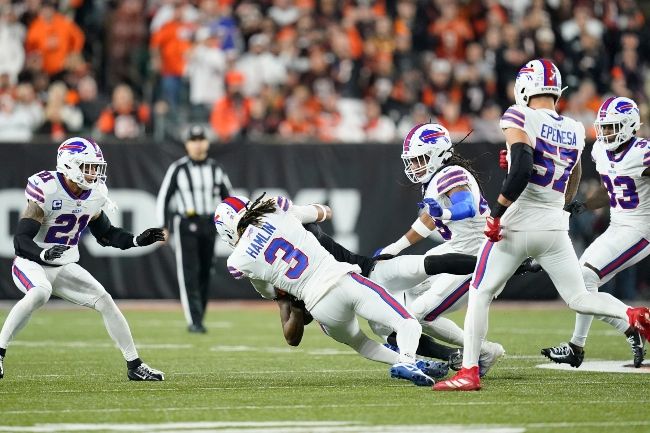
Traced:
<path fill-rule="evenodd" d="M 650 167 L 650 142 L 635 137 L 615 154 L 596 141 L 591 157 L 609 193 L 611 225 L 650 232 L 650 177 L 643 176 Z"/>

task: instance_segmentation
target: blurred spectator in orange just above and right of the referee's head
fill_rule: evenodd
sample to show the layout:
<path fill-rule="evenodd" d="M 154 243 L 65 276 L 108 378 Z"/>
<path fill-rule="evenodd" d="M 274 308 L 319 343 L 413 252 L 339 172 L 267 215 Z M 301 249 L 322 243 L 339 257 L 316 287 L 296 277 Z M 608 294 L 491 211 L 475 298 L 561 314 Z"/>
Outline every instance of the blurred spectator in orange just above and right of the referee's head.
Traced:
<path fill-rule="evenodd" d="M 244 75 L 236 70 L 226 74 L 226 95 L 217 100 L 210 114 L 210 125 L 223 142 L 246 135 L 252 100 L 244 96 Z"/>

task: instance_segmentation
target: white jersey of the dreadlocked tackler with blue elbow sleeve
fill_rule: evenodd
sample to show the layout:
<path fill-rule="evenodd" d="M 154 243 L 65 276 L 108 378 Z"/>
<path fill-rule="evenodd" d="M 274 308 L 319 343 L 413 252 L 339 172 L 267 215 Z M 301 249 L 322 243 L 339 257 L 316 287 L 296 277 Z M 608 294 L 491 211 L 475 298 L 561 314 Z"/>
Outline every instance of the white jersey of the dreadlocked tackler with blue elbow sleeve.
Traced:
<path fill-rule="evenodd" d="M 454 251 L 475 255 L 483 242 L 485 218 L 489 215 L 490 208 L 481 195 L 481 189 L 474 176 L 458 165 L 447 166 L 422 185 L 422 195 L 424 198 L 436 200 L 444 208 L 449 208 L 451 199 L 447 193 L 459 186 L 466 186 L 471 191 L 476 214 L 458 221 L 443 221 L 440 218 L 434 218 L 434 221 L 438 232 Z"/>

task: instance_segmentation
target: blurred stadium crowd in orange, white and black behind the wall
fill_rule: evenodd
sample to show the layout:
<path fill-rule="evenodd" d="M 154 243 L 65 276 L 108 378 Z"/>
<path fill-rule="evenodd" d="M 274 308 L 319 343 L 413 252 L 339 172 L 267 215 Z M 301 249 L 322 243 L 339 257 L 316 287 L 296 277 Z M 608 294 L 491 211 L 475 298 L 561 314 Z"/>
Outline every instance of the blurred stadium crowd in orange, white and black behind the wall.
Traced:
<path fill-rule="evenodd" d="M 164 140 L 200 122 L 222 143 L 393 143 L 431 118 L 502 141 L 513 77 L 535 57 L 559 66 L 559 109 L 593 138 L 606 95 L 648 119 L 642 3 L 0 0 L 0 140 Z"/>

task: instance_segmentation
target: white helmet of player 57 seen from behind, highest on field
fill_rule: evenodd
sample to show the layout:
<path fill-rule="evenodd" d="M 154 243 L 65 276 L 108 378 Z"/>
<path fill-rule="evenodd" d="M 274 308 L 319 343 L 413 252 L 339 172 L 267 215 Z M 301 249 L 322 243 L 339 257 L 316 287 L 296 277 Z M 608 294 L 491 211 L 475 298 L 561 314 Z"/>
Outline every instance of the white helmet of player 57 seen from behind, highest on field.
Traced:
<path fill-rule="evenodd" d="M 528 106 L 534 95 L 553 95 L 555 102 L 562 96 L 562 76 L 560 70 L 546 59 L 531 60 L 526 63 L 515 79 L 515 102 Z"/>

